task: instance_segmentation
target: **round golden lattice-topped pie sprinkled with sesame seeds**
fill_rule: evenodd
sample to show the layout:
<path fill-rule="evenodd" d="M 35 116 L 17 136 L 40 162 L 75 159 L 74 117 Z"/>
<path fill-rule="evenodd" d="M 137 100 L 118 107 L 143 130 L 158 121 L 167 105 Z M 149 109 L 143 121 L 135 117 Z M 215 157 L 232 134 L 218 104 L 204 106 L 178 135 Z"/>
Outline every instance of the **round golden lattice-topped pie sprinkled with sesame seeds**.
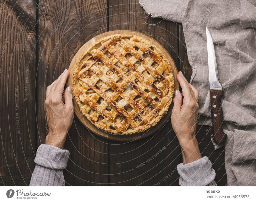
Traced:
<path fill-rule="evenodd" d="M 113 134 L 154 126 L 172 103 L 172 69 L 150 41 L 116 34 L 93 44 L 76 65 L 73 94 L 84 116 Z"/>

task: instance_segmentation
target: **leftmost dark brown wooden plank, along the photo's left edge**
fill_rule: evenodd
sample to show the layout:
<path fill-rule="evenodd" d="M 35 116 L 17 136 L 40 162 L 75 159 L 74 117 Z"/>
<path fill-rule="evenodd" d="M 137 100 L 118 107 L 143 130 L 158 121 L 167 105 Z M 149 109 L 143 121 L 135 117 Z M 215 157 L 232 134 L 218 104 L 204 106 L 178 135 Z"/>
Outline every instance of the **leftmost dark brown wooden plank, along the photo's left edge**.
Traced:
<path fill-rule="evenodd" d="M 0 186 L 26 186 L 34 170 L 35 1 L 0 1 Z M 22 13 L 21 13 L 22 11 Z"/>

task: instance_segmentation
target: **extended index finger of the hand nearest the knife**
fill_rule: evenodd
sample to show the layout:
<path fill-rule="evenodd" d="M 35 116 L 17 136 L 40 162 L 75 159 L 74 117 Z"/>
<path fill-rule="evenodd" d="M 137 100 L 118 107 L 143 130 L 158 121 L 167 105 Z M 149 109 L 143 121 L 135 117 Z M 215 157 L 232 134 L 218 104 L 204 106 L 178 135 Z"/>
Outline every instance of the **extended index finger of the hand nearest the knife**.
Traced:
<path fill-rule="evenodd" d="M 177 74 L 177 80 L 179 81 L 180 87 L 182 88 L 182 94 L 184 96 L 183 102 L 187 103 L 190 99 L 195 99 L 192 93 L 193 91 L 189 86 L 187 79 L 182 75 L 181 72 Z"/>

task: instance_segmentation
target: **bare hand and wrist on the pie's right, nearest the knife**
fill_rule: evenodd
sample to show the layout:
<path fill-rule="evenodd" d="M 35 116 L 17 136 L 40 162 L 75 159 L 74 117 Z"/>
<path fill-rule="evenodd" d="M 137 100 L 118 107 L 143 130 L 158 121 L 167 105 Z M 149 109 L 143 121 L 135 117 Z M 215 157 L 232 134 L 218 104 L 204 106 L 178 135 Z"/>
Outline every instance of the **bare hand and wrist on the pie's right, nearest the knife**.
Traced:
<path fill-rule="evenodd" d="M 202 158 L 196 140 L 199 91 L 188 83 L 181 71 L 177 74 L 177 80 L 182 88 L 182 94 L 177 89 L 174 91 L 172 128 L 180 143 L 183 163 L 186 164 Z"/>

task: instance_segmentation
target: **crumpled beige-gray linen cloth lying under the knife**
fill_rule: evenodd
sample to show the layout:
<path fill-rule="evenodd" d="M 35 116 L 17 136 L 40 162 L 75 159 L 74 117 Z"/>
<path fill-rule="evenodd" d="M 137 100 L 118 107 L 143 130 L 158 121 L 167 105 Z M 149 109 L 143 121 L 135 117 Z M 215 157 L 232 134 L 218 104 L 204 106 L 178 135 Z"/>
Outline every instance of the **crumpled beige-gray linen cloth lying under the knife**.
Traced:
<path fill-rule="evenodd" d="M 193 68 L 191 83 L 200 91 L 197 123 L 206 125 L 211 124 L 205 26 L 209 27 L 224 91 L 228 186 L 256 186 L 256 0 L 139 2 L 152 17 L 182 23 Z"/>

